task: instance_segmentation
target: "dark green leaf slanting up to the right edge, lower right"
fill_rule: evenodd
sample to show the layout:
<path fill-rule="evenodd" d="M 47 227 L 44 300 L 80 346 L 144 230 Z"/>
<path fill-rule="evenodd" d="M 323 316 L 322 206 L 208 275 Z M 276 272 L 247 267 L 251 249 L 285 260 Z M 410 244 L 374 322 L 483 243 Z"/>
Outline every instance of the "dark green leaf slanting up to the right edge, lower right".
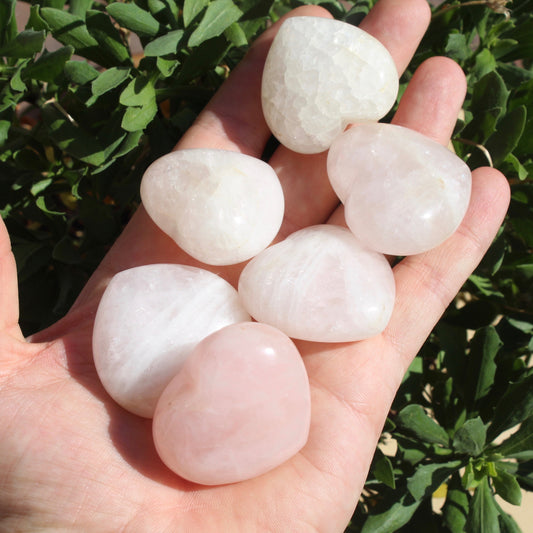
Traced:
<path fill-rule="evenodd" d="M 511 384 L 496 405 L 492 423 L 487 432 L 487 440 L 491 442 L 506 429 L 512 428 L 533 412 L 533 374 Z"/>

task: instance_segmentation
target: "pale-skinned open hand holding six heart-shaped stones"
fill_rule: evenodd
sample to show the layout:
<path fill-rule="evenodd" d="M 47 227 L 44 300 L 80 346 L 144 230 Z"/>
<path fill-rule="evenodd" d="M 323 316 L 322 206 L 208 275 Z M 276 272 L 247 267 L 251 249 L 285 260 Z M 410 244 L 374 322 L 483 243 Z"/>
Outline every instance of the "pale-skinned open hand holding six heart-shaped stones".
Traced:
<path fill-rule="evenodd" d="M 292 14 L 328 16 L 311 6 Z M 402 72 L 428 23 L 425 0 L 381 0 L 362 27 L 382 41 Z M 260 156 L 269 136 L 260 110 L 261 70 L 277 28 L 255 43 L 178 148 Z M 447 144 L 465 89 L 452 61 L 432 58 L 412 79 L 394 122 Z M 342 224 L 324 154 L 279 148 L 270 164 L 286 197 L 278 239 L 312 224 Z M 342 532 L 406 368 L 487 250 L 508 201 L 498 171 L 476 170 L 459 230 L 395 266 L 396 306 L 382 335 L 342 345 L 297 343 L 312 390 L 306 446 L 263 476 L 217 487 L 184 481 L 161 463 L 151 422 L 109 398 L 91 354 L 94 314 L 114 273 L 147 263 L 197 263 L 141 208 L 68 315 L 25 340 L 15 262 L 1 224 L 0 531 Z M 236 284 L 241 269 L 212 270 Z"/>

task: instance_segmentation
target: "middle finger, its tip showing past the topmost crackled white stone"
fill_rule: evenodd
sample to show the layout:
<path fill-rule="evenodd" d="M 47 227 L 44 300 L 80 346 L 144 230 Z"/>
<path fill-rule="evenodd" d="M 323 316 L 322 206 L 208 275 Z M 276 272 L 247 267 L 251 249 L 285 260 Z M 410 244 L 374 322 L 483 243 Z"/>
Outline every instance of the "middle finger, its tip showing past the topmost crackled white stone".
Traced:
<path fill-rule="evenodd" d="M 401 73 L 424 36 L 430 15 L 425 0 L 380 0 L 360 27 L 381 41 Z M 285 194 L 285 220 L 278 239 L 325 222 L 337 207 L 338 198 L 326 176 L 326 159 L 327 152 L 308 156 L 280 146 L 269 161 Z"/>

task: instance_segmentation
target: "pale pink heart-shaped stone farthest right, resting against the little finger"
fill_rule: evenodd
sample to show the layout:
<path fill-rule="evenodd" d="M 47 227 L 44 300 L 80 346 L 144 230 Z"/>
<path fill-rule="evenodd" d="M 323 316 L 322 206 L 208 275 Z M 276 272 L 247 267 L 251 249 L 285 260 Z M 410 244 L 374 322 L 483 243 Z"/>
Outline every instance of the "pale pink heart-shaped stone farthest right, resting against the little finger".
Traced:
<path fill-rule="evenodd" d="M 335 140 L 328 175 L 366 246 L 411 255 L 439 245 L 468 208 L 472 176 L 453 152 L 413 130 L 362 124 Z"/>

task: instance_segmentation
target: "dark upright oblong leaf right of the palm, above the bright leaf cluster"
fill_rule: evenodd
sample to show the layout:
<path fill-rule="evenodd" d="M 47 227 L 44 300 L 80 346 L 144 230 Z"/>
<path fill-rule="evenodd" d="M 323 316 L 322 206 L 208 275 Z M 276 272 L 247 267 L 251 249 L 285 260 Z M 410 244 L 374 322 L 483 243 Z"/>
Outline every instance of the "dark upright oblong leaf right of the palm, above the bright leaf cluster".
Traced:
<path fill-rule="evenodd" d="M 467 383 L 470 383 L 468 399 L 472 408 L 492 390 L 496 375 L 496 355 L 502 341 L 493 326 L 479 329 L 470 342 Z"/>

